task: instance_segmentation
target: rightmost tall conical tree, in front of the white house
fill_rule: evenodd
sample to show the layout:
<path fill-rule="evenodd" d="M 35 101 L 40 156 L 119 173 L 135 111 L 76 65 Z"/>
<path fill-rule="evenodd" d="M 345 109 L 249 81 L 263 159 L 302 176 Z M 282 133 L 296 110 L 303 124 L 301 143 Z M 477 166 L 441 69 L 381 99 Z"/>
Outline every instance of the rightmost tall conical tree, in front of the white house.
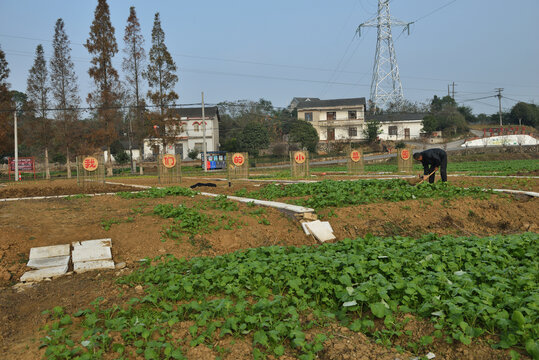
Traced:
<path fill-rule="evenodd" d="M 176 64 L 165 45 L 165 32 L 161 28 L 159 13 L 155 14 L 152 29 L 152 47 L 150 49 L 150 63 L 144 73 L 148 80 L 148 97 L 152 104 L 159 108 L 157 114 L 153 114 L 153 125 L 159 129 L 158 138 L 161 140 L 163 149 L 182 131 L 180 124 L 165 124 L 167 118 L 172 118 L 170 105 L 178 99 L 174 87 L 178 82 Z M 179 119 L 178 119 L 179 121 Z"/>

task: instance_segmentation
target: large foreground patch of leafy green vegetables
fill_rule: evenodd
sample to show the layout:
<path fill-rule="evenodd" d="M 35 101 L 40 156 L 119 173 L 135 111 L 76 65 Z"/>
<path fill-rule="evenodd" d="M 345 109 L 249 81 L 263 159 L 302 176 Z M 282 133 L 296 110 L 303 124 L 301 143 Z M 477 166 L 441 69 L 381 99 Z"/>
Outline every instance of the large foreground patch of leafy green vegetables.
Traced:
<path fill-rule="evenodd" d="M 445 334 L 447 341 L 469 344 L 489 332 L 499 336 L 497 347 L 525 347 L 537 358 L 538 257 L 535 233 L 366 236 L 189 261 L 169 256 L 154 265 L 148 260 L 120 280 L 143 285 L 144 297 L 105 309 L 96 301 L 93 309 L 74 314 L 82 317 L 82 337 L 72 339 L 67 329 L 74 325 L 66 318 L 53 324 L 43 344 L 48 354 L 76 350 L 99 358 L 131 349 L 147 359 L 181 359 L 181 346 L 250 334 L 255 358 L 289 349 L 300 359 L 313 359 L 325 337 L 307 341 L 305 331 L 320 320 L 337 319 L 354 331 L 390 339 L 402 333 L 395 315 L 413 313 L 435 322 L 433 335 Z M 376 318 L 384 319 L 385 329 L 373 332 Z M 172 335 L 182 321 L 193 322 L 188 339 Z M 417 340 L 409 347 L 427 346 L 433 338 Z"/>

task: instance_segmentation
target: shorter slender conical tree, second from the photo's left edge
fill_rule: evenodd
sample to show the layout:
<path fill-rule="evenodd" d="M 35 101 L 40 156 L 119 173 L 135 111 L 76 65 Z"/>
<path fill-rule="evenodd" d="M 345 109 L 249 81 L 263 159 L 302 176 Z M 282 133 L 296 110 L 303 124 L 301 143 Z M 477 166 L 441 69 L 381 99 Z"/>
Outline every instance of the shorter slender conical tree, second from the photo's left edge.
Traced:
<path fill-rule="evenodd" d="M 47 62 L 43 46 L 39 44 L 36 48 L 34 65 L 28 74 L 26 95 L 28 107 L 31 112 L 29 126 L 32 131 L 28 139 L 31 145 L 43 148 L 45 152 L 45 174 L 50 179 L 49 171 L 49 146 L 52 136 L 51 121 L 47 118 L 47 108 L 49 106 L 49 84 Z"/>

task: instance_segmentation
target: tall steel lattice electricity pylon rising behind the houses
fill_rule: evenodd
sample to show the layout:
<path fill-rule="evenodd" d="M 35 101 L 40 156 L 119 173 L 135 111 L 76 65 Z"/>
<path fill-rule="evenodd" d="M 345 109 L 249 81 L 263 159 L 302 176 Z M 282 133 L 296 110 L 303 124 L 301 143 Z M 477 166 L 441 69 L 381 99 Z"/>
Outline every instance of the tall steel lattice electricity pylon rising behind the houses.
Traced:
<path fill-rule="evenodd" d="M 392 19 L 389 14 L 390 1 L 378 0 L 378 15 L 374 19 L 360 24 L 357 28 L 359 36 L 361 36 L 362 27 L 376 27 L 378 29 L 370 94 L 374 112 L 377 109 L 385 108 L 390 103 L 400 102 L 404 99 L 399 66 L 391 36 L 391 26 L 404 26 L 410 33 L 410 24 L 412 23 Z"/>

